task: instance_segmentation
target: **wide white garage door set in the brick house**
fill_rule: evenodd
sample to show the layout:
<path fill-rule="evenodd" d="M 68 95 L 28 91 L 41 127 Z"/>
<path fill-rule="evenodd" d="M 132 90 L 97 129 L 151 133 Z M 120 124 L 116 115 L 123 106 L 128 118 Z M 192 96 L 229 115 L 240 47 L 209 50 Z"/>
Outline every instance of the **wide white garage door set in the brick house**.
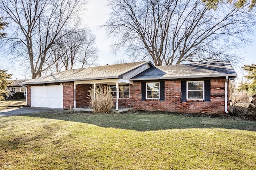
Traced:
<path fill-rule="evenodd" d="M 31 86 L 31 107 L 63 108 L 63 85 Z"/>

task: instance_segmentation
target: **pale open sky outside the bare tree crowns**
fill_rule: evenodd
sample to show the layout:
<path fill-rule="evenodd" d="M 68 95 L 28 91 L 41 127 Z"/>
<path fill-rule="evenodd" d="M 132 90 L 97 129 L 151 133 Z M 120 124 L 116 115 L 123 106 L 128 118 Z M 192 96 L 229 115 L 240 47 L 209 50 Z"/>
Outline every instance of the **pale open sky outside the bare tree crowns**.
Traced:
<path fill-rule="evenodd" d="M 96 35 L 96 45 L 100 50 L 98 59 L 100 65 L 114 64 L 115 61 L 123 58 L 127 60 L 128 57 L 122 53 L 114 55 L 110 49 L 111 39 L 106 38 L 104 29 L 99 28 L 99 25 L 103 25 L 108 19 L 110 10 L 106 7 L 106 2 L 107 0 L 90 0 L 83 18 L 84 25 L 88 25 L 92 33 Z M 253 40 L 252 45 L 241 51 L 241 57 L 245 59 L 241 66 L 244 64 L 256 64 L 256 36 L 254 36 Z M 13 74 L 12 79 L 25 79 L 25 76 L 26 79 L 30 79 L 30 70 L 26 72 L 20 63 L 11 63 L 4 52 L 0 53 L 0 69 L 8 70 L 8 74 Z M 236 70 L 238 71 L 239 69 L 237 68 Z"/>

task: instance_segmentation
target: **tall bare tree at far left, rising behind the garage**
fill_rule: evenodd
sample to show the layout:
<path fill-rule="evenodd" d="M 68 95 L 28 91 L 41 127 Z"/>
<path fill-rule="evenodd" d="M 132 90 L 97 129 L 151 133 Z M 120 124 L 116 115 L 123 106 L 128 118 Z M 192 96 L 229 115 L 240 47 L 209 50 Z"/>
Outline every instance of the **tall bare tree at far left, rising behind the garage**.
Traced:
<path fill-rule="evenodd" d="M 0 0 L 1 14 L 13 32 L 7 45 L 29 61 L 32 79 L 52 66 L 45 66 L 48 52 L 63 36 L 76 29 L 86 0 Z"/>

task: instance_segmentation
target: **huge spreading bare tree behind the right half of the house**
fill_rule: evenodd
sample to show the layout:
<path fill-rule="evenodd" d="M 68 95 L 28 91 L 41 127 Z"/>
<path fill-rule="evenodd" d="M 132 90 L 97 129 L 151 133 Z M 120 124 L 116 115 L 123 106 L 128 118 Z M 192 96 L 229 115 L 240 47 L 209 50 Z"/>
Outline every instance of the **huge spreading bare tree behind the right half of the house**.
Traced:
<path fill-rule="evenodd" d="M 103 27 L 114 35 L 112 48 L 155 65 L 236 61 L 232 50 L 250 43 L 255 10 L 219 4 L 208 10 L 201 0 L 110 0 L 110 18 Z"/>

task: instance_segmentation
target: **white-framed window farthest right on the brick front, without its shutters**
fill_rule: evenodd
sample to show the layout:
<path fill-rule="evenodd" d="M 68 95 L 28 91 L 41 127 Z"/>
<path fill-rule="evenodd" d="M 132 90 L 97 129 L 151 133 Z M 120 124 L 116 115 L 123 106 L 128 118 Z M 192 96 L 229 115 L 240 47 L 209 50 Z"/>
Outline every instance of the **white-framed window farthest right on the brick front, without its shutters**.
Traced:
<path fill-rule="evenodd" d="M 204 81 L 187 82 L 187 99 L 204 100 Z"/>

